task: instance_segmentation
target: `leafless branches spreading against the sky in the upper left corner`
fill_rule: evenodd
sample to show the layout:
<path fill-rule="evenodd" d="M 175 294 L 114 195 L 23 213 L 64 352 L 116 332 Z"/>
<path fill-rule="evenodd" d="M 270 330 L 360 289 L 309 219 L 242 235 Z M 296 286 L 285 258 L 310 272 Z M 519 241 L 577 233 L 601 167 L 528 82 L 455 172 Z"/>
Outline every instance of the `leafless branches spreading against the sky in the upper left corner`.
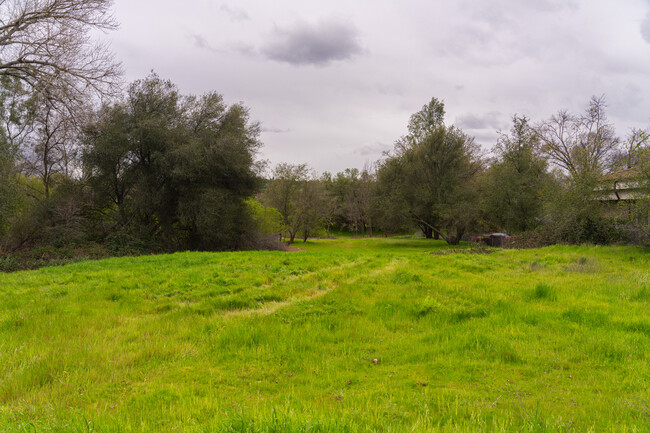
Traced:
<path fill-rule="evenodd" d="M 113 30 L 112 0 L 0 0 L 0 76 L 16 78 L 54 106 L 116 90 L 121 66 L 93 30 Z"/>

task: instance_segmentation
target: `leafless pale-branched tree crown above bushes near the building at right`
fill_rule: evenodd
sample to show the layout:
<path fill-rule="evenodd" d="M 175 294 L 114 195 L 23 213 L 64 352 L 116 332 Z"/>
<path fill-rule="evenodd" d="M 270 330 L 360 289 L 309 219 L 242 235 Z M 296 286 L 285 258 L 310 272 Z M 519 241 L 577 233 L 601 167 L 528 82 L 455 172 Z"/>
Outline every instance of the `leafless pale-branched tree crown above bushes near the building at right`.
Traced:
<path fill-rule="evenodd" d="M 549 160 L 574 178 L 602 172 L 618 144 L 605 108 L 605 98 L 593 96 L 582 115 L 562 110 L 536 128 Z"/>

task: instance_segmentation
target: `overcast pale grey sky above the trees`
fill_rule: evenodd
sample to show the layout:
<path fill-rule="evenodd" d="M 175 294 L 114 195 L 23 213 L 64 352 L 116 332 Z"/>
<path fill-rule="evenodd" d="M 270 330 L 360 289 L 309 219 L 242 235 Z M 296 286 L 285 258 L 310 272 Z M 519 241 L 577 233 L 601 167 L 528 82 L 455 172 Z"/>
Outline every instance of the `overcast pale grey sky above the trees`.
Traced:
<path fill-rule="evenodd" d="M 431 97 L 486 149 L 513 114 L 604 94 L 619 135 L 650 125 L 649 0 L 115 0 L 126 79 L 243 102 L 261 158 L 361 168 Z"/>

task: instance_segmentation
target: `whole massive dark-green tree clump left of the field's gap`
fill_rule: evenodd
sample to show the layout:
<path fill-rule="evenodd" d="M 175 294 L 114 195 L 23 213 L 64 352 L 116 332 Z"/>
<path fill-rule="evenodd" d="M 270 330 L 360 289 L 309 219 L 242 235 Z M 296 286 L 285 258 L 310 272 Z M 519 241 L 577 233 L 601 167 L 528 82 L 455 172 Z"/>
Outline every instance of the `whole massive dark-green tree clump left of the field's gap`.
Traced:
<path fill-rule="evenodd" d="M 182 96 L 152 74 L 85 133 L 84 166 L 99 219 L 167 249 L 237 249 L 253 229 L 259 126 L 216 93 Z"/>

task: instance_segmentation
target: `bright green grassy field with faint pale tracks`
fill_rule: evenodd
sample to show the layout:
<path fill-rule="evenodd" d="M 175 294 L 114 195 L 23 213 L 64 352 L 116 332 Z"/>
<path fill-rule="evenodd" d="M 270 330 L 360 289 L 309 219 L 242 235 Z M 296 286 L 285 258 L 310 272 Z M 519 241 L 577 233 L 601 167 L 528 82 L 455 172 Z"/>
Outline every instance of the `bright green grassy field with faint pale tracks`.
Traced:
<path fill-rule="evenodd" d="M 0 274 L 0 431 L 650 431 L 648 251 L 297 246 Z"/>

